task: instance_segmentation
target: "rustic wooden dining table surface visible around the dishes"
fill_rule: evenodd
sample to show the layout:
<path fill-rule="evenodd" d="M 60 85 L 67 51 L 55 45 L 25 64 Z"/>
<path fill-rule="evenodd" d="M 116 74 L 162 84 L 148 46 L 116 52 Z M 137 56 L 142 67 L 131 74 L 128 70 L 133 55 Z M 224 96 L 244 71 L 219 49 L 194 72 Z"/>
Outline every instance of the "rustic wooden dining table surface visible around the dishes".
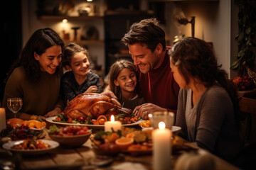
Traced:
<path fill-rule="evenodd" d="M 48 127 L 47 125 L 46 127 Z M 97 130 L 92 130 L 97 132 Z M 44 140 L 51 140 L 48 135 L 47 128 L 43 129 L 42 136 Z M 204 149 L 193 145 L 191 142 L 186 142 L 186 145 L 191 146 L 198 151 L 207 152 Z M 172 153 L 170 159 L 170 169 L 175 169 L 176 162 L 182 154 L 189 152 L 184 150 L 177 153 Z M 210 154 L 210 153 L 208 153 Z M 215 169 L 236 170 L 237 166 L 226 162 L 220 157 L 210 154 L 215 162 Z M 5 167 L 5 168 L 3 168 Z M 92 141 L 87 140 L 82 147 L 65 148 L 56 147 L 46 154 L 39 155 L 22 155 L 10 152 L 9 150 L 0 149 L 0 169 L 102 169 L 102 170 L 117 170 L 117 169 L 153 169 L 153 154 L 133 155 L 127 153 L 119 153 L 115 156 L 107 156 L 97 154 L 92 147 Z"/>

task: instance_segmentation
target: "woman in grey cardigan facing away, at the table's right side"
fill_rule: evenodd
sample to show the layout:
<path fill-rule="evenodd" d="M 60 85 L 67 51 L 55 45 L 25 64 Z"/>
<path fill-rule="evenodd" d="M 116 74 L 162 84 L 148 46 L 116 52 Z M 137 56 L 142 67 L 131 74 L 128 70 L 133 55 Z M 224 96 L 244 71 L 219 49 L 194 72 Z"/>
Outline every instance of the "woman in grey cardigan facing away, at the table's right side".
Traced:
<path fill-rule="evenodd" d="M 240 150 L 234 84 L 203 40 L 184 38 L 169 55 L 174 79 L 181 87 L 176 114 L 180 135 L 230 161 Z"/>

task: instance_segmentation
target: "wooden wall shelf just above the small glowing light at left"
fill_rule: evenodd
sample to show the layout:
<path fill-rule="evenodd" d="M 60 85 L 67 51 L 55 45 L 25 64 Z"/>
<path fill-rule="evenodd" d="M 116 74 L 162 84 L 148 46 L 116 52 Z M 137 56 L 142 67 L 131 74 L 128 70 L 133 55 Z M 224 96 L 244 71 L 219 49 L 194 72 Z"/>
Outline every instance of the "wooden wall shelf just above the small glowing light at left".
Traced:
<path fill-rule="evenodd" d="M 90 21 L 95 19 L 102 19 L 103 16 L 40 16 L 39 19 L 43 21 L 63 21 L 67 19 L 68 21 Z"/>

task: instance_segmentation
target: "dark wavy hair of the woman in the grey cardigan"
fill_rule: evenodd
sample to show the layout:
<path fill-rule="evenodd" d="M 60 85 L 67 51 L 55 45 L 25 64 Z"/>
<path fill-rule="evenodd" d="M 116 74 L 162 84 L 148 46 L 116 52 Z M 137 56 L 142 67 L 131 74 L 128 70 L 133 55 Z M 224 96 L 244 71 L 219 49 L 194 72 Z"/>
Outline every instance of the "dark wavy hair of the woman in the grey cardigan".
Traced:
<path fill-rule="evenodd" d="M 184 38 L 169 51 L 171 62 L 188 84 L 189 76 L 202 81 L 206 87 L 220 84 L 228 92 L 234 106 L 235 118 L 238 120 L 238 96 L 235 84 L 228 79 L 225 70 L 220 69 L 213 48 L 204 40 Z"/>

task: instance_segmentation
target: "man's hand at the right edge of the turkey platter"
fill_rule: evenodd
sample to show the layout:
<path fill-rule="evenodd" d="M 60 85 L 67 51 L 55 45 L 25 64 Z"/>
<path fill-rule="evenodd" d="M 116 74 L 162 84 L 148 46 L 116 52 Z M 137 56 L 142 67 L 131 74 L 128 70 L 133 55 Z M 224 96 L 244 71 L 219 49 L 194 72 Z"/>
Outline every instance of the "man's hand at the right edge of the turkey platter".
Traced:
<path fill-rule="evenodd" d="M 159 106 L 156 106 L 152 103 L 144 103 L 141 106 L 137 106 L 134 108 L 134 113 L 135 115 L 139 115 L 144 120 L 149 119 L 149 113 L 153 114 L 156 111 L 167 111 L 166 108 L 161 108 Z"/>

